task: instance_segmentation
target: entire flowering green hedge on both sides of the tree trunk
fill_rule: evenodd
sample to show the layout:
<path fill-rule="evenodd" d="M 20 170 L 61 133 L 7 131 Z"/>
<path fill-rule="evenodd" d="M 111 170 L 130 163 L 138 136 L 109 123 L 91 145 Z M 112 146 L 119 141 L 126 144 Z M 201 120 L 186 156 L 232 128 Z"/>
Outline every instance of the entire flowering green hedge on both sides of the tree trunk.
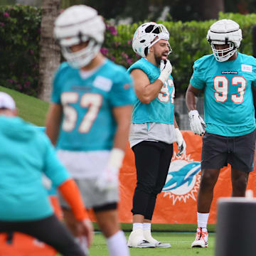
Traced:
<path fill-rule="evenodd" d="M 256 24 L 256 14 L 220 13 L 220 18 L 230 18 L 240 24 L 243 35 L 240 52 L 252 55 L 252 27 Z M 164 22 L 171 35 L 169 42 L 173 53 L 170 60 L 174 67 L 177 93 L 186 91 L 193 62 L 211 53 L 206 33 L 213 22 Z M 0 85 L 37 96 L 40 23 L 41 9 L 32 6 L 0 6 Z M 102 53 L 128 68 L 138 59 L 131 43 L 134 31 L 140 24 L 117 27 L 107 24 Z"/>

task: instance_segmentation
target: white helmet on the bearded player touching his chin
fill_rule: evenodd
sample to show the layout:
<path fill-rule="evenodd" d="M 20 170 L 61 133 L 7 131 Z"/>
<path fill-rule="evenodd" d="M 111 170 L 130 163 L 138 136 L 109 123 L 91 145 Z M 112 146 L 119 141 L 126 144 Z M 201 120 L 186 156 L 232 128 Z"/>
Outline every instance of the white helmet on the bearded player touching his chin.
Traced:
<path fill-rule="evenodd" d="M 158 38 L 156 39 L 156 41 L 154 41 L 154 38 L 156 38 L 156 36 Z M 145 50 L 149 51 L 149 48 L 151 46 L 154 46 L 154 44 L 161 39 L 169 41 L 169 37 L 169 32 L 164 25 L 154 22 L 147 22 L 139 26 L 139 28 L 137 28 L 137 30 L 135 31 L 134 37 L 132 39 L 132 49 L 135 53 L 142 56 L 142 58 L 146 58 Z M 168 54 L 170 54 L 172 51 L 170 45 L 169 48 L 170 51 Z"/>

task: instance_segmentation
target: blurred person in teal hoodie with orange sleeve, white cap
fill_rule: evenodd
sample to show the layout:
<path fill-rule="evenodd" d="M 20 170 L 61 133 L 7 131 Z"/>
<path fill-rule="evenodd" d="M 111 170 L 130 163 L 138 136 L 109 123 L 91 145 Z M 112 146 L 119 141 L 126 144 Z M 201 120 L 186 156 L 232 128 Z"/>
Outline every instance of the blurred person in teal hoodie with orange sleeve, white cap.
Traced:
<path fill-rule="evenodd" d="M 47 176 L 70 204 L 78 235 L 86 235 L 90 245 L 92 223 L 78 187 L 60 164 L 46 134 L 17 117 L 14 99 L 5 92 L 0 92 L 0 140 L 0 233 L 9 233 L 9 242 L 12 232 L 21 232 L 46 242 L 61 255 L 87 256 L 53 213 L 42 176 Z"/>

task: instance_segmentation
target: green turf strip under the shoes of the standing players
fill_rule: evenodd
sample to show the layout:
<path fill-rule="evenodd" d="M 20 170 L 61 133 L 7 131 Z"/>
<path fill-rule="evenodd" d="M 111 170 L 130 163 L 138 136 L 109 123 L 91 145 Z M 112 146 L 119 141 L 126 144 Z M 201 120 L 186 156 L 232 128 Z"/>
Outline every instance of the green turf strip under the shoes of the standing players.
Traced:
<path fill-rule="evenodd" d="M 208 248 L 191 248 L 191 242 L 195 239 L 195 233 L 152 233 L 156 240 L 170 242 L 170 248 L 130 248 L 131 256 L 213 256 L 215 246 L 215 233 L 209 235 Z M 129 233 L 125 233 L 128 240 Z M 90 256 L 107 256 L 107 245 L 101 233 L 95 233 Z M 121 256 L 121 255 L 120 255 Z"/>

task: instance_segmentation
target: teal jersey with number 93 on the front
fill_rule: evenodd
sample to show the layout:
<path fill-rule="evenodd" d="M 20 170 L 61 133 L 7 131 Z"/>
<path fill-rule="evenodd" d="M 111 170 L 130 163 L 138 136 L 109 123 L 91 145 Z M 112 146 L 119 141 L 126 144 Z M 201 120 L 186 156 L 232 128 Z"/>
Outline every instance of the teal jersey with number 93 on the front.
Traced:
<path fill-rule="evenodd" d="M 227 137 L 255 129 L 252 87 L 256 85 L 256 59 L 242 53 L 218 62 L 213 55 L 196 60 L 191 85 L 204 90 L 206 131 Z"/>

